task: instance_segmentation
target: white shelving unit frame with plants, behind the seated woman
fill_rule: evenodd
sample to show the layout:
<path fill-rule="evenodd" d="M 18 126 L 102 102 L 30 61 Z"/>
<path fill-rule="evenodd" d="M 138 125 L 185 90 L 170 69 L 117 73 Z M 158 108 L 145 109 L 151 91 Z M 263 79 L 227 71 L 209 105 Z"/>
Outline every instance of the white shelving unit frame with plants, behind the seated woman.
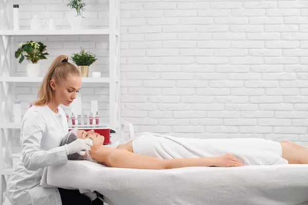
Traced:
<path fill-rule="evenodd" d="M 108 35 L 109 36 L 109 77 L 83 78 L 84 83 L 109 84 L 109 127 L 116 132 L 121 130 L 120 120 L 120 0 L 109 2 L 109 28 L 86 30 L 9 30 L 12 15 L 12 1 L 0 0 L 0 202 L 6 190 L 6 181 L 12 173 L 12 134 L 20 129 L 20 123 L 12 120 L 14 83 L 41 83 L 43 77 L 11 76 L 11 60 L 14 58 L 11 42 L 16 36 L 54 36 L 54 35 Z M 59 53 L 60 55 L 61 53 Z M 4 107 L 3 107 L 4 106 Z M 7 111 L 7 115 L 3 113 Z"/>

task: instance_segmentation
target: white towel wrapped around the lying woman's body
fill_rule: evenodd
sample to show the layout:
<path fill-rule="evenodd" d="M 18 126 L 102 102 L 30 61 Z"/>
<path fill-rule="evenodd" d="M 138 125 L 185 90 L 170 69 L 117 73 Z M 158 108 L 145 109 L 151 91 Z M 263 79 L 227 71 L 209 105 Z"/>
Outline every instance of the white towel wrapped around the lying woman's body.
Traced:
<path fill-rule="evenodd" d="M 245 165 L 287 164 L 279 142 L 263 138 L 199 139 L 145 132 L 132 141 L 133 152 L 161 159 L 232 154 Z"/>

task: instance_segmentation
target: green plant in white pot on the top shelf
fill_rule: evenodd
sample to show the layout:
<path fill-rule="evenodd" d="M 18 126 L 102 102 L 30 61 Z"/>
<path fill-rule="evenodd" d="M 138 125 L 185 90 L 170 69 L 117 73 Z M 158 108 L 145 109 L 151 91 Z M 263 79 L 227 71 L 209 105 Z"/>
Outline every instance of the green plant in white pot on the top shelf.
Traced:
<path fill-rule="evenodd" d="M 82 12 L 85 10 L 86 4 L 82 0 L 68 0 L 67 7 L 71 10 L 76 10 L 77 15 L 68 16 L 68 22 L 71 26 L 71 29 L 82 29 L 84 25 L 84 20 Z"/>

